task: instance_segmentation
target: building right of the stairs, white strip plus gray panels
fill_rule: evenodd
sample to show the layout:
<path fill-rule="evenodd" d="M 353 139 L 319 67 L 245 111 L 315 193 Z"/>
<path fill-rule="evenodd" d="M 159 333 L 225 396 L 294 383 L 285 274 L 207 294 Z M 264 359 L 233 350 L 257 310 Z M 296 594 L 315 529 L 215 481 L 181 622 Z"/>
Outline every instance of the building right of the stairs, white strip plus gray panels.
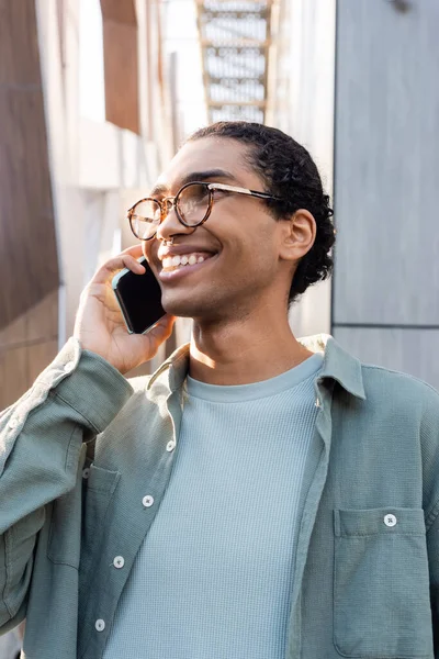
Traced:
<path fill-rule="evenodd" d="M 337 227 L 292 324 L 439 388 L 439 3 L 277 0 L 272 25 L 267 122 L 311 149 Z"/>

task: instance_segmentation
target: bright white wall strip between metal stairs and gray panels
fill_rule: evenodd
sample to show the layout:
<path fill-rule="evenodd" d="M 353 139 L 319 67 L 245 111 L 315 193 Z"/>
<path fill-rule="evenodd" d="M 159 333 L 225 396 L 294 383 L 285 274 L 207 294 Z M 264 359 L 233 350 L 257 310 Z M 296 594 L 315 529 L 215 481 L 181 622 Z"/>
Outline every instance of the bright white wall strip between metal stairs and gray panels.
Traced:
<path fill-rule="evenodd" d="M 267 123 L 311 152 L 333 197 L 336 0 L 274 0 L 271 25 Z M 308 289 L 290 320 L 296 336 L 330 333 L 330 281 Z"/>

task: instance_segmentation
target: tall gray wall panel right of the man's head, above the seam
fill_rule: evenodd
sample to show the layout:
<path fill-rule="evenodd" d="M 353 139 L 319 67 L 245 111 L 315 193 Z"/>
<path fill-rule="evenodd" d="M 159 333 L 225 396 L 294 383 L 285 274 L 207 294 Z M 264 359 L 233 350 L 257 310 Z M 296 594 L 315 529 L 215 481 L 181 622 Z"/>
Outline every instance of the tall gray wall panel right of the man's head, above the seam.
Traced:
<path fill-rule="evenodd" d="M 439 325 L 439 2 L 397 4 L 338 1 L 336 323 Z"/>

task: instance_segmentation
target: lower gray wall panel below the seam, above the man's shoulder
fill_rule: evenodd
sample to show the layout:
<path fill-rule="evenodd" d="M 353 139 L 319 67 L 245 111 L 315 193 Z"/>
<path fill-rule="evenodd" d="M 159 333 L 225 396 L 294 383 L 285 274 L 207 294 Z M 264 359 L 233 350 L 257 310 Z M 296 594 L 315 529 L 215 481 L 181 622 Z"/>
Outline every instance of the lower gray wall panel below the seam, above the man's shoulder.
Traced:
<path fill-rule="evenodd" d="M 438 330 L 337 327 L 334 337 L 361 361 L 410 373 L 439 389 Z"/>

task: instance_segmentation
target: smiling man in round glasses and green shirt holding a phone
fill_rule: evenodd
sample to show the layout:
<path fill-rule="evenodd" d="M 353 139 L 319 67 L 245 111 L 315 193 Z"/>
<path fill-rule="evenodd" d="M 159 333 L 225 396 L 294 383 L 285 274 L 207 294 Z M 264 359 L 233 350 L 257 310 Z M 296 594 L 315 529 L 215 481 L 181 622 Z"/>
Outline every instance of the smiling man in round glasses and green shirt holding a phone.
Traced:
<path fill-rule="evenodd" d="M 309 154 L 214 124 L 150 198 L 1 417 L 2 629 L 29 659 L 434 657 L 439 399 L 291 332 L 331 268 Z M 133 336 L 110 282 L 142 250 L 168 315 Z M 175 316 L 190 347 L 130 384 Z"/>

